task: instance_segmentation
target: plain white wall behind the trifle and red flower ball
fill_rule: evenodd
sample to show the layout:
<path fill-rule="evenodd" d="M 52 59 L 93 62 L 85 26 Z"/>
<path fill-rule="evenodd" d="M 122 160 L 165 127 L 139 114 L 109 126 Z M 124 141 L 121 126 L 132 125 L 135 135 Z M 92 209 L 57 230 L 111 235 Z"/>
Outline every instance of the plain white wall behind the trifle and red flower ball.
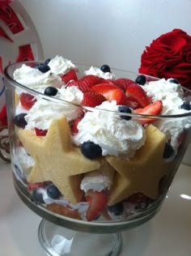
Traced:
<path fill-rule="evenodd" d="M 20 0 L 45 58 L 138 70 L 146 45 L 181 28 L 191 35 L 191 0 Z"/>

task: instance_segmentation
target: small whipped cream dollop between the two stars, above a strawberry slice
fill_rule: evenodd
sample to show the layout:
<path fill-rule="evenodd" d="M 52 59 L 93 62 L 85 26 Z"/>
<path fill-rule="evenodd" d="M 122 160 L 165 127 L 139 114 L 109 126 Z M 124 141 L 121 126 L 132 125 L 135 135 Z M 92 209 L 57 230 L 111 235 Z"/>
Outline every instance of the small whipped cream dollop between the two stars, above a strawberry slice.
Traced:
<path fill-rule="evenodd" d="M 88 190 L 96 190 L 98 192 L 102 190 L 110 190 L 112 186 L 112 180 L 106 173 L 101 173 L 99 170 L 86 173 L 80 184 L 80 189 L 84 192 Z"/>

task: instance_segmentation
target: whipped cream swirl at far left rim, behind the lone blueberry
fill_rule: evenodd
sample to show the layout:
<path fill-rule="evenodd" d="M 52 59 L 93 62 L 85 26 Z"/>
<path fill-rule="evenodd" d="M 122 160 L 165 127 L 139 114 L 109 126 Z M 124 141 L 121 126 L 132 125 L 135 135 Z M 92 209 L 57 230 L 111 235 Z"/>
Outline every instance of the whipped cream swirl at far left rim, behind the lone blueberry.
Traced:
<path fill-rule="evenodd" d="M 45 87 L 62 86 L 62 79 L 57 75 L 51 74 L 50 70 L 43 73 L 40 70 L 25 64 L 14 71 L 13 78 L 18 83 L 21 83 L 24 86 L 32 88 L 38 92 L 44 92 Z"/>

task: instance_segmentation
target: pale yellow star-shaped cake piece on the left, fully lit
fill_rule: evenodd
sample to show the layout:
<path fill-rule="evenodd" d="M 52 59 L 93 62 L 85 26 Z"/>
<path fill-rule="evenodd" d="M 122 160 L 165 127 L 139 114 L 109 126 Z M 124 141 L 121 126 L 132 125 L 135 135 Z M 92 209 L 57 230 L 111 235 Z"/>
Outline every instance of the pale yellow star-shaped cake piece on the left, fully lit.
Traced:
<path fill-rule="evenodd" d="M 83 173 L 100 169 L 100 161 L 88 160 L 71 143 L 66 117 L 53 120 L 45 137 L 37 137 L 33 130 L 19 130 L 17 134 L 35 160 L 28 181 L 53 181 L 71 203 L 78 203 L 83 197 Z"/>

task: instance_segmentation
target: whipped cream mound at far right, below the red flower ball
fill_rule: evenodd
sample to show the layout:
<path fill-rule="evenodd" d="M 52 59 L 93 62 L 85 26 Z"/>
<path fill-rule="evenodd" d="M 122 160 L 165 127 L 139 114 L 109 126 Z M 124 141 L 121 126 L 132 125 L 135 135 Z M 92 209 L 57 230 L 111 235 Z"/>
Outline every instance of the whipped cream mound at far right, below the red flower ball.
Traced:
<path fill-rule="evenodd" d="M 180 109 L 180 105 L 184 103 L 184 92 L 180 84 L 172 83 L 170 79 L 159 79 L 146 83 L 142 88 L 148 96 L 151 96 L 153 101 L 163 101 L 162 115 L 177 115 L 189 112 L 188 110 Z M 178 138 L 180 134 L 185 128 L 191 126 L 190 119 L 191 118 L 163 118 L 153 122 L 153 125 L 166 134 L 167 140 L 171 139 L 171 145 L 176 151 L 179 146 Z"/>

